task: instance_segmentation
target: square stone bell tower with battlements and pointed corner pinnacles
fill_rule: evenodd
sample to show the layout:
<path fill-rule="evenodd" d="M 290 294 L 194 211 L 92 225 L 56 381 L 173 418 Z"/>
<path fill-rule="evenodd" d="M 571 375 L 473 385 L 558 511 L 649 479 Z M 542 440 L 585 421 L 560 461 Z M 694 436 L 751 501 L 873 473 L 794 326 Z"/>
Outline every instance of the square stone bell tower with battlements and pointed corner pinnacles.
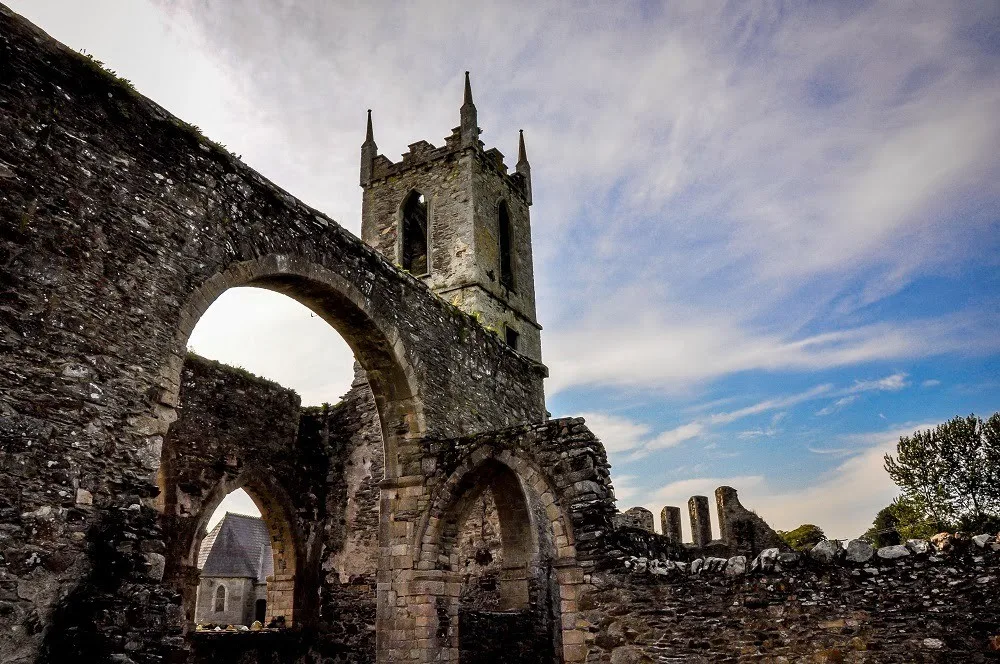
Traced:
<path fill-rule="evenodd" d="M 541 362 L 531 260 L 531 167 L 479 140 L 469 73 L 461 123 L 436 148 L 417 141 L 399 162 L 378 154 L 368 111 L 361 146 L 361 237 L 438 295 Z"/>

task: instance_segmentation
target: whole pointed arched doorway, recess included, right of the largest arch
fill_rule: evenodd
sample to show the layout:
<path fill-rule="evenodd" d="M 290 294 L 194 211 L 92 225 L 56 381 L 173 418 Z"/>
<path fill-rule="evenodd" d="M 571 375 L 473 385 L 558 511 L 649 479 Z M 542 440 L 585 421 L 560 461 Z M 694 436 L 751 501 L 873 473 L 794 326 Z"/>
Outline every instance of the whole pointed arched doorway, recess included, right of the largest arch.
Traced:
<path fill-rule="evenodd" d="M 428 580 L 440 580 L 442 592 L 434 605 L 436 620 L 424 635 L 434 646 L 421 661 L 577 661 L 564 656 L 565 645 L 582 643 L 582 634 L 576 633 L 573 616 L 564 615 L 563 599 L 576 597 L 582 575 L 569 521 L 544 475 L 509 452 L 480 449 L 436 496 L 418 567 Z M 484 496 L 495 506 L 487 519 L 475 514 Z M 475 583 L 463 560 L 470 517 L 476 526 L 495 518 L 500 533 L 499 551 L 490 555 L 490 564 L 500 559 L 493 564 L 493 606 L 463 606 L 474 594 L 469 583 Z"/>

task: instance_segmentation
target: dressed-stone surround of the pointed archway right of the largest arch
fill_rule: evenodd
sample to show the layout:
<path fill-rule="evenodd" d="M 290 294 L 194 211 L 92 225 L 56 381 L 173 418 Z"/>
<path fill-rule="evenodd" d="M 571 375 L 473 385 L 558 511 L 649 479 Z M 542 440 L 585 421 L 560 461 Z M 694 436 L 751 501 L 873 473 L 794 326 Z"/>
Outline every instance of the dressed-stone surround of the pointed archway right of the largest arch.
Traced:
<path fill-rule="evenodd" d="M 576 598 L 583 573 L 573 529 L 558 490 L 533 463 L 509 450 L 482 446 L 438 487 L 416 552 L 415 589 L 430 597 L 414 608 L 418 635 L 430 644 L 420 661 L 459 661 L 461 578 L 455 543 L 469 506 L 486 489 L 494 494 L 504 540 L 502 605 L 552 618 L 551 656 L 582 661 L 585 635 L 577 627 Z M 551 574 L 551 577 L 549 576 Z M 419 617 L 423 614 L 423 618 Z"/>

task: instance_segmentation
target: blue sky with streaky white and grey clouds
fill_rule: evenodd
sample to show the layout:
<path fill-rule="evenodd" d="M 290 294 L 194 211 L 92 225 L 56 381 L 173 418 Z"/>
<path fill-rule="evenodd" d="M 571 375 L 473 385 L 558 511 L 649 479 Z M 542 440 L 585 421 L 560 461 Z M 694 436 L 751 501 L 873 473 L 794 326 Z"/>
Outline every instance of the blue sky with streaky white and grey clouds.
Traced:
<path fill-rule="evenodd" d="M 380 151 L 532 163 L 549 409 L 621 506 L 722 483 L 782 528 L 860 533 L 900 433 L 1000 409 L 1000 5 L 20 0 L 348 229 Z M 204 354 L 335 401 L 346 346 L 226 294 Z"/>

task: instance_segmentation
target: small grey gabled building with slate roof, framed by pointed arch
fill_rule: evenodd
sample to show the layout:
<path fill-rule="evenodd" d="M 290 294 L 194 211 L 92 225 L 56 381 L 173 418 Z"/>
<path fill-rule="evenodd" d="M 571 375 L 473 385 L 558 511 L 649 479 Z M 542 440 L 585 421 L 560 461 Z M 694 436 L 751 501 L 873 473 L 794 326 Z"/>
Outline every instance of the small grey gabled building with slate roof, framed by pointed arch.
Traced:
<path fill-rule="evenodd" d="M 198 568 L 201 581 L 195 622 L 249 625 L 264 621 L 267 577 L 274 573 L 274 558 L 263 519 L 227 512 L 205 536 Z"/>

